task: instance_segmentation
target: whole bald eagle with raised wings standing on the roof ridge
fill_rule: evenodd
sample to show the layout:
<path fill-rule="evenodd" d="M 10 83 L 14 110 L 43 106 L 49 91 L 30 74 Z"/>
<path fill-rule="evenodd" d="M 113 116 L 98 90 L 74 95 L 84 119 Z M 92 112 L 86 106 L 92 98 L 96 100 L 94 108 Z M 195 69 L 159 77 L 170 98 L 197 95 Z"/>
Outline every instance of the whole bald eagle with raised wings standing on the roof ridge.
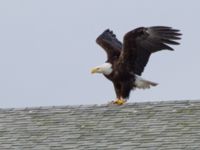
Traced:
<path fill-rule="evenodd" d="M 94 67 L 91 73 L 103 73 L 112 81 L 116 101 L 122 105 L 135 88 L 147 89 L 157 83 L 141 77 L 150 55 L 160 50 L 173 50 L 169 45 L 178 45 L 181 33 L 166 26 L 139 27 L 127 32 L 120 42 L 113 31 L 107 29 L 100 34 L 96 42 L 107 53 L 107 61 Z"/>

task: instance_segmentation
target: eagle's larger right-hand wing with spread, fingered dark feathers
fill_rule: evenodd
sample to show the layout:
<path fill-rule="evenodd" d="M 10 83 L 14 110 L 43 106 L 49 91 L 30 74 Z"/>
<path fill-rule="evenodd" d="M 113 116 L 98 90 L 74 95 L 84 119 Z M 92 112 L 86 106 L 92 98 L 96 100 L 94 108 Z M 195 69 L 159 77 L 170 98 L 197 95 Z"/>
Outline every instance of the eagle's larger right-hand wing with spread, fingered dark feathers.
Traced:
<path fill-rule="evenodd" d="M 163 49 L 173 50 L 169 45 L 178 45 L 179 30 L 165 26 L 140 27 L 125 34 L 123 61 L 135 74 L 141 75 L 153 52 Z"/>

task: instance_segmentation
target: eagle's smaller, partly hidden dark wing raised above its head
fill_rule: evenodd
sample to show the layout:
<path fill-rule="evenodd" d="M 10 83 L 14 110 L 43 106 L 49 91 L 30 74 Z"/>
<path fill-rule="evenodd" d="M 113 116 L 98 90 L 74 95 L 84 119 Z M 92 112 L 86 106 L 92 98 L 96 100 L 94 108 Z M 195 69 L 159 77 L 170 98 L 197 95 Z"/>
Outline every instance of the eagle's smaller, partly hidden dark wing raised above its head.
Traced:
<path fill-rule="evenodd" d="M 99 35 L 96 42 L 106 51 L 108 60 L 116 56 L 119 57 L 122 51 L 122 43 L 116 38 L 113 31 L 109 29 Z"/>

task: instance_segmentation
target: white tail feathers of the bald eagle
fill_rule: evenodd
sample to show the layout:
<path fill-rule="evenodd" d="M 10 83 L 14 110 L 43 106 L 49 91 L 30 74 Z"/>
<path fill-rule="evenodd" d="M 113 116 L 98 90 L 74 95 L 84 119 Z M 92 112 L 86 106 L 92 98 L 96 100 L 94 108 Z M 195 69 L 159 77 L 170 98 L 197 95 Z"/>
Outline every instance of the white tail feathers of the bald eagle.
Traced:
<path fill-rule="evenodd" d="M 151 86 L 156 86 L 156 85 L 158 85 L 158 83 L 145 80 L 142 77 L 135 75 L 135 86 L 138 89 L 149 89 Z"/>

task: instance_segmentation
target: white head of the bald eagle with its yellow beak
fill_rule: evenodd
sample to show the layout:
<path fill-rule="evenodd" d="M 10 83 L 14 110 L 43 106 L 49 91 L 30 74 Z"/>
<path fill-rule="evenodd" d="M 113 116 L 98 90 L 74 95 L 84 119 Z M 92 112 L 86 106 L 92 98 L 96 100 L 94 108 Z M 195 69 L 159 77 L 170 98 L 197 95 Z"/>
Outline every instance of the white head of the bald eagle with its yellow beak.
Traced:
<path fill-rule="evenodd" d="M 102 65 L 92 68 L 91 73 L 103 73 L 105 75 L 111 74 L 113 71 L 111 63 L 104 63 Z"/>

